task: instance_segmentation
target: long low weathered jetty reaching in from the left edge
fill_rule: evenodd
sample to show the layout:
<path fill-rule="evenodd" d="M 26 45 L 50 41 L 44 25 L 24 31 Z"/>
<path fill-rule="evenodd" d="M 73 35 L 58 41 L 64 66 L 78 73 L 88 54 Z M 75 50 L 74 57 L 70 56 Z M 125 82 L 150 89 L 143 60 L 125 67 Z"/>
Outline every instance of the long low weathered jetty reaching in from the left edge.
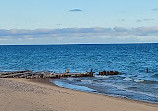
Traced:
<path fill-rule="evenodd" d="M 13 71 L 13 72 L 0 72 L 0 78 L 27 78 L 27 79 L 38 79 L 38 78 L 64 78 L 64 77 L 93 77 L 94 72 L 85 73 L 54 73 L 54 72 L 32 72 L 26 71 Z"/>

